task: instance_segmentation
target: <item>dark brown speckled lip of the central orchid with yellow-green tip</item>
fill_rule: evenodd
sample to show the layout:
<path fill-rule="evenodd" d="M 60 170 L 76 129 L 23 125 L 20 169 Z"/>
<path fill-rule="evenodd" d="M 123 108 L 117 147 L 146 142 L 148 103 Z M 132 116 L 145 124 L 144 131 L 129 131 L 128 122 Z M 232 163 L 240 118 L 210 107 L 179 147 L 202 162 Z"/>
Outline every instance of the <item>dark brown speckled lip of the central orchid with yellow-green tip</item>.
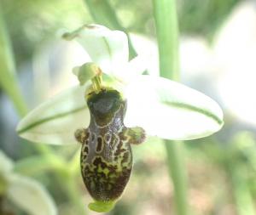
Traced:
<path fill-rule="evenodd" d="M 84 184 L 92 198 L 90 209 L 110 210 L 125 190 L 132 169 L 131 144 L 145 139 L 141 127 L 124 125 L 126 100 L 113 88 L 97 88 L 86 94 L 90 125 L 75 138 L 82 144 L 80 165 Z"/>

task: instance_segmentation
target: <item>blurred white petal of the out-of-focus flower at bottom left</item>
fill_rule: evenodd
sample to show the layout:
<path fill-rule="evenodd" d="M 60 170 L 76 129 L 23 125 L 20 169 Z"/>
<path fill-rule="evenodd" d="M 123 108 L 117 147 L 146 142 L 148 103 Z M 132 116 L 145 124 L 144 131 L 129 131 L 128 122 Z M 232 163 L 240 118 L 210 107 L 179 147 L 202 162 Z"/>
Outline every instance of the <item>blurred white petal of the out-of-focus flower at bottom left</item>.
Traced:
<path fill-rule="evenodd" d="M 13 175 L 9 180 L 7 196 L 30 215 L 56 215 L 55 203 L 37 181 Z"/>

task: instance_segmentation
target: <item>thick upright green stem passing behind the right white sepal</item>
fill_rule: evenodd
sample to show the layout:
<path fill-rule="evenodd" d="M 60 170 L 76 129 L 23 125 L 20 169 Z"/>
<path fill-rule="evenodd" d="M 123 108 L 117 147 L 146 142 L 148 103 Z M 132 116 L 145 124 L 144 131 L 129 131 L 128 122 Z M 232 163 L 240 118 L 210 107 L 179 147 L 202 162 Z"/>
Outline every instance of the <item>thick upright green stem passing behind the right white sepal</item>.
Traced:
<path fill-rule="evenodd" d="M 160 76 L 178 81 L 178 25 L 175 0 L 153 0 L 154 20 L 159 45 Z M 167 163 L 172 176 L 176 214 L 187 215 L 187 177 L 183 161 L 183 143 L 166 140 Z"/>

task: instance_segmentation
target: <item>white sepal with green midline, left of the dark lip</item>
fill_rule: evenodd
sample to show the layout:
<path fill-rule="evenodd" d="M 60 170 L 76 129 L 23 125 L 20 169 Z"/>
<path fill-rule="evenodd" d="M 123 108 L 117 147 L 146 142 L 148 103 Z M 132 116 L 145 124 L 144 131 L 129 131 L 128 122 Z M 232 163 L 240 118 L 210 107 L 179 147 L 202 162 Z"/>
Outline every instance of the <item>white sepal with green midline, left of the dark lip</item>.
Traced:
<path fill-rule="evenodd" d="M 90 122 L 84 100 L 87 86 L 70 88 L 32 110 L 17 127 L 20 137 L 45 144 L 77 143 L 74 132 Z"/>

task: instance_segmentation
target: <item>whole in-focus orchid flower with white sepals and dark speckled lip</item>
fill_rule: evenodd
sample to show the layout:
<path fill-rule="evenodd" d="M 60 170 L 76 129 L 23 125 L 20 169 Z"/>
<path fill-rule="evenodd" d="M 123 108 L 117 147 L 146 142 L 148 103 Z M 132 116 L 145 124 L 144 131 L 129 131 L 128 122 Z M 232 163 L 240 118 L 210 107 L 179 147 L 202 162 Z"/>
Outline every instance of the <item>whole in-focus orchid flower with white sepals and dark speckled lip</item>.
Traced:
<path fill-rule="evenodd" d="M 20 121 L 17 132 L 20 137 L 37 143 L 82 143 L 81 168 L 85 178 L 84 184 L 96 201 L 90 203 L 90 209 L 97 212 L 109 211 L 120 195 L 116 198 L 108 198 L 109 196 L 103 194 L 102 185 L 96 181 L 93 183 L 86 181 L 87 172 L 84 175 L 86 165 L 83 162 L 88 161 L 86 160 L 88 157 L 92 161 L 95 161 L 96 157 L 102 159 L 102 154 L 96 153 L 97 146 L 100 145 L 101 149 L 102 141 L 110 145 L 114 136 L 112 134 L 115 134 L 108 133 L 107 137 L 111 139 L 109 141 L 108 138 L 106 140 L 101 136 L 102 133 L 98 137 L 101 140 L 95 140 L 91 123 L 101 124 L 102 119 L 102 116 L 97 116 L 93 110 L 96 97 L 98 100 L 101 97 L 101 105 L 104 104 L 97 107 L 101 111 L 108 108 L 107 106 L 111 108 L 113 106 L 113 101 L 106 102 L 106 98 L 102 98 L 102 94 L 106 92 L 114 94 L 114 101 L 119 101 L 121 105 L 126 105 L 127 101 L 125 118 L 119 119 L 122 123 L 124 121 L 124 126 L 122 124 L 120 129 L 122 130 L 123 127 L 125 129 L 125 132 L 122 130 L 118 133 L 119 143 L 122 142 L 120 135 L 122 137 L 126 135 L 130 144 L 131 142 L 141 143 L 145 133 L 147 136 L 157 136 L 161 139 L 198 139 L 217 132 L 223 126 L 223 112 L 214 100 L 181 83 L 172 82 L 163 77 L 143 75 L 143 71 L 147 69 L 147 63 L 141 56 L 129 61 L 128 42 L 124 32 L 111 31 L 102 25 L 84 25 L 77 31 L 66 33 L 63 37 L 67 40 L 75 38 L 90 55 L 92 63 L 84 62 L 84 65 L 75 67 L 73 71 L 78 76 L 80 85 L 67 89 L 32 110 Z M 114 114 L 119 113 L 114 112 Z M 88 129 L 84 129 L 86 127 Z M 100 132 L 97 131 L 96 135 L 98 133 Z M 91 158 L 91 148 L 96 150 L 93 155 L 96 156 L 93 157 L 95 160 Z M 127 150 L 130 149 L 128 148 Z M 107 161 L 102 163 L 107 165 L 107 170 L 102 169 L 102 166 L 97 170 L 106 176 L 109 173 L 110 164 Z M 110 166 L 113 167 L 113 163 Z M 116 168 L 119 169 L 119 166 Z M 125 184 L 129 177 L 130 173 Z M 97 188 L 97 186 L 100 187 Z M 99 194 L 101 192 L 104 197 Z"/>

